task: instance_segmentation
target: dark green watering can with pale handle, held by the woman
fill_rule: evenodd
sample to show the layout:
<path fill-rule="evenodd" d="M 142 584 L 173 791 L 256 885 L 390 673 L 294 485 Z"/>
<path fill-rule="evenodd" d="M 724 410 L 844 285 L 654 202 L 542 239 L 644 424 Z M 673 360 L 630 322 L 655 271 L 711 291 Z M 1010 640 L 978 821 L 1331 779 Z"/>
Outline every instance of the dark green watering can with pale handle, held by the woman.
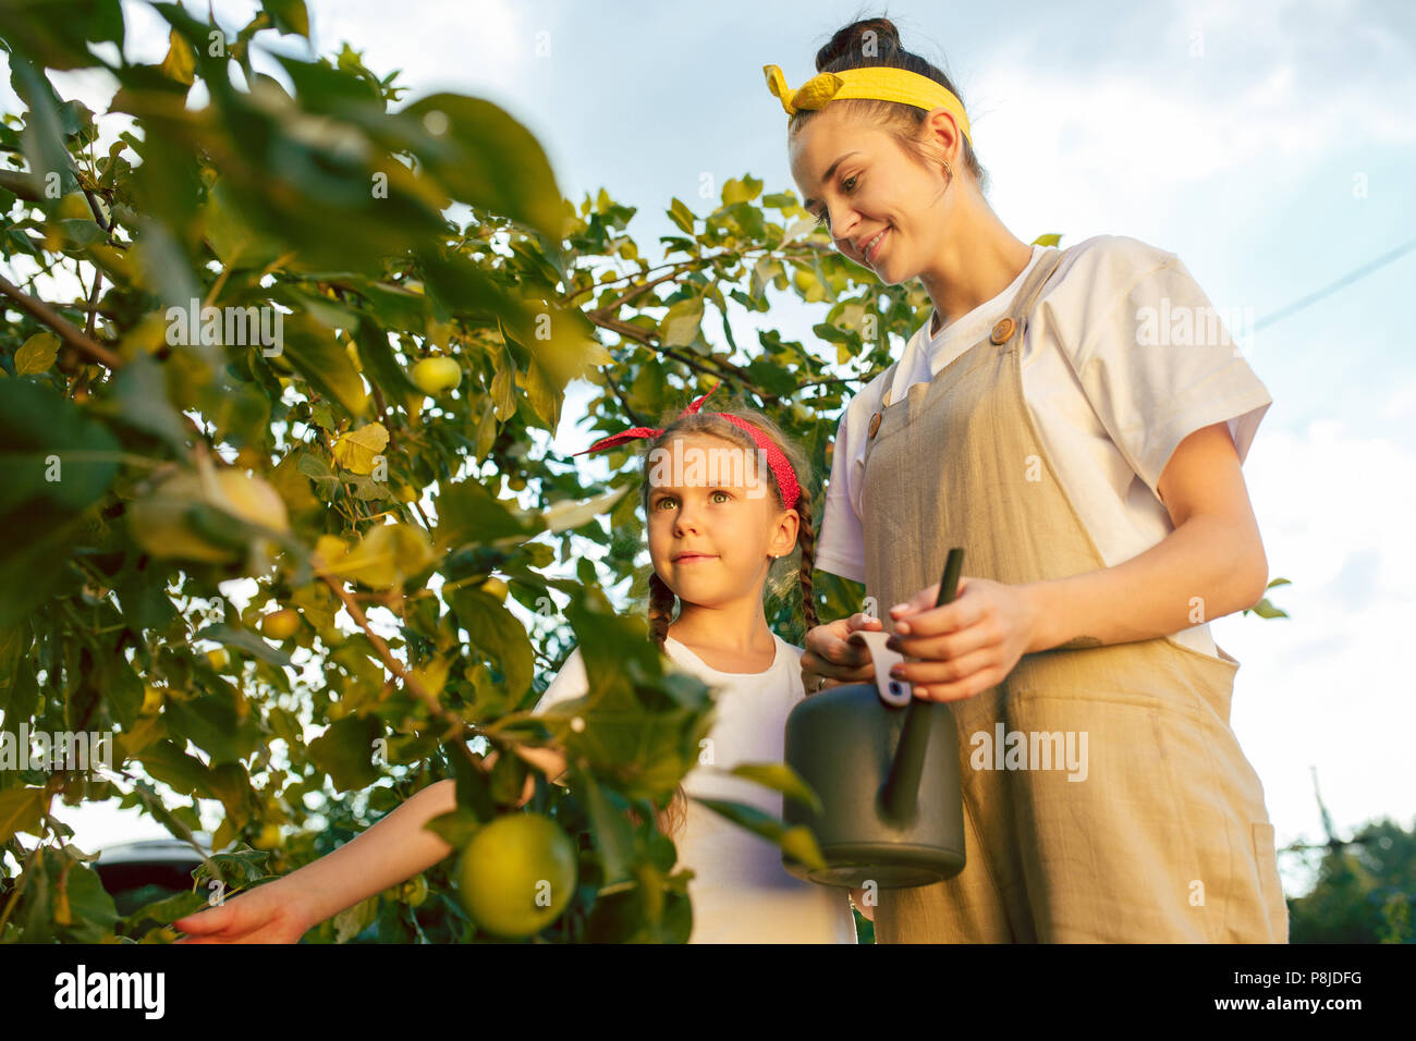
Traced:
<path fill-rule="evenodd" d="M 935 606 L 954 599 L 963 550 L 949 551 Z M 816 834 L 824 870 L 790 854 L 782 865 L 823 885 L 881 889 L 932 885 L 964 870 L 959 731 L 949 707 L 913 697 L 892 680 L 903 660 L 889 633 L 855 632 L 875 664 L 875 683 L 811 694 L 787 715 L 783 758 L 821 800 L 821 812 L 783 799 L 782 819 Z"/>

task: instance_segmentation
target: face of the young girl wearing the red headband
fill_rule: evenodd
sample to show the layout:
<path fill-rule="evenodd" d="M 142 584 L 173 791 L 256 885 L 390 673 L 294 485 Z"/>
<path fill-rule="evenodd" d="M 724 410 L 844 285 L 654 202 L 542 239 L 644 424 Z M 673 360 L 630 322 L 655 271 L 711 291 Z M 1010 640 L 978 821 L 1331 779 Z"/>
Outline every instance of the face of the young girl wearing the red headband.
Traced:
<path fill-rule="evenodd" d="M 753 449 L 702 433 L 661 448 L 646 472 L 654 571 L 690 603 L 760 603 L 770 558 L 796 545 L 797 511 L 777 506 L 770 472 L 758 477 Z"/>

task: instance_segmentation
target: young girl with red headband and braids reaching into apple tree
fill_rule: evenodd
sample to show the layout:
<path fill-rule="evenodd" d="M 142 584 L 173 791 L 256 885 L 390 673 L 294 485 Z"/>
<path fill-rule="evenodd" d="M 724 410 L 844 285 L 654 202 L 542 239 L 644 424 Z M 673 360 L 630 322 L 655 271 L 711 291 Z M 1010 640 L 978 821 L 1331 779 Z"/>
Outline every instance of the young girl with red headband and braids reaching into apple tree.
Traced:
<path fill-rule="evenodd" d="M 807 465 L 766 416 L 701 412 L 707 397 L 666 429 L 632 428 L 586 449 L 649 439 L 641 504 L 653 562 L 650 636 L 678 667 L 716 691 L 712 763 L 690 770 L 661 817 L 680 864 L 695 872 L 688 884 L 690 942 L 854 943 L 855 921 L 843 889 L 789 875 L 776 846 L 685 797 L 731 799 L 780 816 L 780 795 L 724 770 L 780 762 L 787 712 L 803 697 L 801 649 L 767 627 L 762 606 L 773 564 L 794 548 L 807 625 L 816 625 L 811 499 L 797 477 L 806 477 Z M 576 647 L 537 711 L 588 688 Z M 523 755 L 551 779 L 566 765 L 558 749 Z M 530 787 L 528 779 L 525 797 Z M 334 853 L 173 922 L 188 936 L 178 942 L 296 942 L 331 915 L 453 853 L 423 826 L 455 804 L 455 782 L 429 785 Z"/>

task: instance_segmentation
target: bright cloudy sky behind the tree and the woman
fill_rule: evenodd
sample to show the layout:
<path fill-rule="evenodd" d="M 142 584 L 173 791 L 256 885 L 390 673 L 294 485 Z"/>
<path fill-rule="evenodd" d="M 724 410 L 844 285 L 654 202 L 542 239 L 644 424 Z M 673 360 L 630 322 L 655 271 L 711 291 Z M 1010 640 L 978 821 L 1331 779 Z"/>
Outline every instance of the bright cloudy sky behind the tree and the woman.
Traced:
<path fill-rule="evenodd" d="M 215 3 L 229 30 L 252 10 Z M 671 197 L 705 212 L 729 177 L 792 188 L 762 65 L 797 86 L 835 28 L 879 13 L 957 84 L 1015 235 L 1138 238 L 1175 252 L 1222 313 L 1252 309 L 1245 354 L 1274 404 L 1243 470 L 1270 576 L 1293 585 L 1274 593 L 1289 619 L 1212 623 L 1240 661 L 1232 725 L 1280 847 L 1323 841 L 1314 776 L 1341 836 L 1382 816 L 1412 827 L 1416 681 L 1398 652 L 1416 623 L 1416 249 L 1263 323 L 1416 241 L 1416 4 L 310 3 L 317 54 L 350 41 L 377 74 L 402 69 L 406 101 L 497 102 L 541 140 L 565 195 L 605 187 L 640 208 L 641 248 L 670 232 Z M 125 14 L 127 57 L 160 59 L 161 23 L 136 3 Z M 112 92 L 52 79 L 96 112 Z M 14 105 L 7 78 L 0 96 Z M 769 320 L 810 341 L 818 313 L 782 300 Z M 589 397 L 571 388 L 558 452 L 590 439 Z M 1296 857 L 1280 870 L 1303 888 Z"/>

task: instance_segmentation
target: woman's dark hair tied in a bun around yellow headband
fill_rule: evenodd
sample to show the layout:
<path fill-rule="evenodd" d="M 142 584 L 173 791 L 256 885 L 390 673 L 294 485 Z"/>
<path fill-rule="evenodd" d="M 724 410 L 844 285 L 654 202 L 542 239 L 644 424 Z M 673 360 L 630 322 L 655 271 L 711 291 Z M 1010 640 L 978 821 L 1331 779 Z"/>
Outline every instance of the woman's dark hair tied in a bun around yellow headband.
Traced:
<path fill-rule="evenodd" d="M 816 52 L 817 72 L 841 72 L 843 69 L 865 68 L 869 65 L 889 65 L 891 68 L 902 68 L 909 72 L 918 72 L 922 76 L 929 76 L 936 84 L 953 92 L 960 103 L 963 103 L 963 95 L 959 93 L 953 81 L 942 69 L 903 48 L 899 42 L 899 31 L 889 18 L 879 17 L 852 21 L 845 28 L 837 30 L 830 42 Z M 875 101 L 874 98 L 845 98 L 831 102 L 831 108 L 837 105 L 848 106 L 848 112 L 854 119 L 874 123 L 892 135 L 901 143 L 901 147 L 905 149 L 906 154 L 919 160 L 920 164 L 926 167 L 935 164 L 935 159 L 925 150 L 920 142 L 920 126 L 927 115 L 925 109 L 918 105 L 906 105 L 898 101 Z M 797 110 L 787 123 L 787 135 L 794 136 L 820 110 Z M 978 163 L 978 156 L 974 154 L 969 136 L 960 136 L 963 139 L 963 164 L 973 174 L 974 181 L 978 183 L 978 191 L 987 193 L 988 173 Z"/>

